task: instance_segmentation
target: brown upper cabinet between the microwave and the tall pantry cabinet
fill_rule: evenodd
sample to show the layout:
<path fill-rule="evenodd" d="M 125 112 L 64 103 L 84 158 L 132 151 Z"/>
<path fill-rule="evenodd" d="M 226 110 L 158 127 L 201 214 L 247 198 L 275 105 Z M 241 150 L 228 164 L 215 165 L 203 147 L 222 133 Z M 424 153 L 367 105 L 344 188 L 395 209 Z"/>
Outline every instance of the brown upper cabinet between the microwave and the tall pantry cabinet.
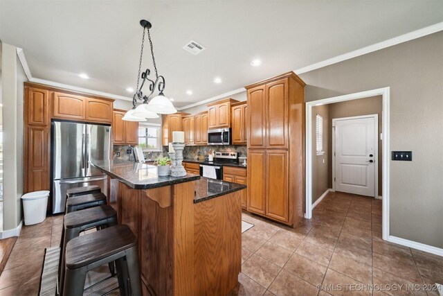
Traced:
<path fill-rule="evenodd" d="M 230 107 L 233 145 L 246 145 L 248 139 L 248 104 L 235 103 Z"/>

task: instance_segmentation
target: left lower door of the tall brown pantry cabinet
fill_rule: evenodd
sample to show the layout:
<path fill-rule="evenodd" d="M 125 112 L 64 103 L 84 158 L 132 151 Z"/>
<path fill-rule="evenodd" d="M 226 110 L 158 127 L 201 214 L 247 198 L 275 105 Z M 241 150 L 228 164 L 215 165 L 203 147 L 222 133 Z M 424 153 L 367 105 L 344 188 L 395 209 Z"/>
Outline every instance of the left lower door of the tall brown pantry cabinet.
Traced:
<path fill-rule="evenodd" d="M 275 176 L 280 177 L 280 176 Z M 248 199 L 247 209 L 265 214 L 266 210 L 266 151 L 248 149 Z"/>

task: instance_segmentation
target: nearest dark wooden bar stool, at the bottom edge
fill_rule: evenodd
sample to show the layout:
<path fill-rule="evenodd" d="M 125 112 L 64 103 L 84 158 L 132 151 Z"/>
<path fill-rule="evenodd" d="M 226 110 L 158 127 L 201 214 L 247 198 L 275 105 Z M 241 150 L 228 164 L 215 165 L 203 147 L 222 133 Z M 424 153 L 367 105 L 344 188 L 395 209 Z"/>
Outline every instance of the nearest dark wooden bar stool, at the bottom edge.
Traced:
<path fill-rule="evenodd" d="M 116 261 L 120 295 L 129 295 L 129 289 L 132 295 L 141 295 L 137 238 L 127 225 L 84 234 L 67 243 L 62 295 L 83 295 L 87 271 L 111 261 Z"/>

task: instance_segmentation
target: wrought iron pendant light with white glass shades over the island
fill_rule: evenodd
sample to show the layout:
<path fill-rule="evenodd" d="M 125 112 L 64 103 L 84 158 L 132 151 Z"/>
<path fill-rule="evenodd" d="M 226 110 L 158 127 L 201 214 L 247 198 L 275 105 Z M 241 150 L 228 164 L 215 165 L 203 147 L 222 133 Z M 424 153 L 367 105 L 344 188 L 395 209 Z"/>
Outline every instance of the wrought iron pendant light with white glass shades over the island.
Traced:
<path fill-rule="evenodd" d="M 126 112 L 125 116 L 123 117 L 123 120 L 126 121 L 146 121 L 147 118 L 159 118 L 159 115 L 157 113 L 173 114 L 177 112 L 174 105 L 172 105 L 170 99 L 166 98 L 163 94 L 163 91 L 165 90 L 165 78 L 163 76 L 159 76 L 155 63 L 154 48 L 152 46 L 150 34 L 150 28 L 152 28 L 152 24 L 145 19 L 142 19 L 140 21 L 140 24 L 141 26 L 143 26 L 143 36 L 141 40 L 140 62 L 138 64 L 137 88 L 136 93 L 132 97 L 132 110 Z M 151 73 L 150 69 L 146 69 L 146 71 L 141 73 L 141 62 L 143 60 L 143 46 L 145 44 L 146 31 L 147 37 L 150 40 L 152 62 L 154 64 L 156 78 L 155 81 L 148 78 Z M 141 86 L 138 87 L 140 76 L 143 79 L 143 82 L 141 83 Z M 143 92 L 141 91 L 141 89 L 143 89 L 143 85 L 145 85 L 146 80 L 150 83 L 150 94 L 148 96 L 143 96 Z M 152 94 L 154 94 L 157 88 L 159 89 L 159 94 L 150 100 Z M 138 101 L 141 102 L 141 104 L 137 106 Z"/>

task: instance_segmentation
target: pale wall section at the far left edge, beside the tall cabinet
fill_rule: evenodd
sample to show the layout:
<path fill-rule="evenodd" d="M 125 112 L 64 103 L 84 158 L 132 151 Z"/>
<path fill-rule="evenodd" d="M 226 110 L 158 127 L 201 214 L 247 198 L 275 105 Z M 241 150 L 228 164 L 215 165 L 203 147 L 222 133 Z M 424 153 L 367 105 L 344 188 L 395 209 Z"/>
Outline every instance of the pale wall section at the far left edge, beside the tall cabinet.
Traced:
<path fill-rule="evenodd" d="M 16 228 L 22 218 L 23 195 L 23 82 L 17 48 L 2 44 L 3 97 L 3 231 Z"/>

